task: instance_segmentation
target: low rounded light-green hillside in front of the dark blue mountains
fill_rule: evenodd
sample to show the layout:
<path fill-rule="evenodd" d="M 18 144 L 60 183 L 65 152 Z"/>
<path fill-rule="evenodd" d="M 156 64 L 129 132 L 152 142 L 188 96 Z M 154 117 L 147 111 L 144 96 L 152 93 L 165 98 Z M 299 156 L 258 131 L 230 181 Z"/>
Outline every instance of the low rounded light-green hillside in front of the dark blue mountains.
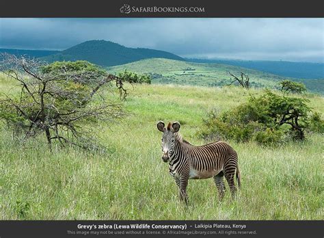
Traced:
<path fill-rule="evenodd" d="M 120 66 L 107 67 L 111 73 L 129 70 L 139 73 L 148 73 L 152 76 L 153 83 L 176 83 L 180 85 L 204 85 L 217 86 L 227 85 L 230 75 L 227 71 L 239 76 L 241 71 L 245 72 L 250 79 L 251 85 L 257 88 L 275 87 L 278 81 L 291 79 L 306 84 L 312 92 L 324 92 L 324 79 L 293 79 L 273 75 L 267 72 L 230 66 L 226 64 L 208 64 L 178 61 L 172 59 L 143 59 L 138 62 Z"/>

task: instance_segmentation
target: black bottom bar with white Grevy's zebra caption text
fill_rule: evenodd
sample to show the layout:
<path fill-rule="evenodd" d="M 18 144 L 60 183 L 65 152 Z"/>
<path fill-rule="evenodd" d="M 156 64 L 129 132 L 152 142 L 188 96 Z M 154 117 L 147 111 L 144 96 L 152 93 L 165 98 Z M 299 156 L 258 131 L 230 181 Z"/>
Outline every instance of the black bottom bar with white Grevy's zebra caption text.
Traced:
<path fill-rule="evenodd" d="M 323 237 L 323 221 L 1 221 L 0 237 Z"/>

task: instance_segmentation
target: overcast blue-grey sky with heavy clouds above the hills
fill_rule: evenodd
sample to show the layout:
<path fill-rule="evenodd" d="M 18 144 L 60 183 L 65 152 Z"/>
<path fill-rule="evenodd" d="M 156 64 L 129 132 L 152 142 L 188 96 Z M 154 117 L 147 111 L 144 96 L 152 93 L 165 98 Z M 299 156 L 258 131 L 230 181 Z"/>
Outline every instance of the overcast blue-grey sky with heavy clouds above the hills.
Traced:
<path fill-rule="evenodd" d="M 86 40 L 183 57 L 324 62 L 324 18 L 0 18 L 0 48 L 62 50 Z"/>

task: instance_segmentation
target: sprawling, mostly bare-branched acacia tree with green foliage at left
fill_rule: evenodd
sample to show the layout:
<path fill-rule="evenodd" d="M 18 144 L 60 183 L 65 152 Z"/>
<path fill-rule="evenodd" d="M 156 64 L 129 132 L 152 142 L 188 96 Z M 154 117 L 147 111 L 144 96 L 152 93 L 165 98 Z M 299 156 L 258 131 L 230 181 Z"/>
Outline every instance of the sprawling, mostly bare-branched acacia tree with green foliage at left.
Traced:
<path fill-rule="evenodd" d="M 0 98 L 0 118 L 24 141 L 44 133 L 51 148 L 54 140 L 62 146 L 81 148 L 94 145 L 92 123 L 111 122 L 124 116 L 120 102 L 108 101 L 100 89 L 116 83 L 120 96 L 126 95 L 122 79 L 89 62 L 55 62 L 3 55 L 1 71 L 20 85 L 19 94 Z"/>

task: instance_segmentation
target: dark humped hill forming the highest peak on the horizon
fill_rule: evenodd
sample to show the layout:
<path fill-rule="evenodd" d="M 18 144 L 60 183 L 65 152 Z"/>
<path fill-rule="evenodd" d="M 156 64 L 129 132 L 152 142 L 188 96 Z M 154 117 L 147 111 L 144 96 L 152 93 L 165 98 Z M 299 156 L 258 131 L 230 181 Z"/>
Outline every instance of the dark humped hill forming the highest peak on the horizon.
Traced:
<path fill-rule="evenodd" d="M 183 60 L 182 57 L 166 51 L 153 49 L 129 48 L 105 40 L 90 40 L 74 47 L 48 55 L 42 59 L 48 62 L 87 60 L 100 66 L 116 66 L 135 62 L 140 59 L 161 57 L 166 59 Z"/>

